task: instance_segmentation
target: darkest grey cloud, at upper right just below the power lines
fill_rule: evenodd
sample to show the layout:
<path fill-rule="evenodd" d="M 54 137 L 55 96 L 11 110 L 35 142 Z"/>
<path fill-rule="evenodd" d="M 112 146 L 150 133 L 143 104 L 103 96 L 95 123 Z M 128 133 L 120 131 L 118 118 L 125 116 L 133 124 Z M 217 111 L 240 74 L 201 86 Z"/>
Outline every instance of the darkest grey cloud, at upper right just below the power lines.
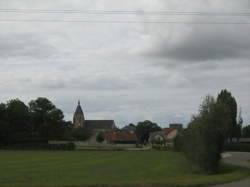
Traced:
<path fill-rule="evenodd" d="M 187 62 L 249 58 L 250 37 L 247 28 L 193 26 L 181 41 L 168 43 L 159 40 L 146 55 Z"/>

